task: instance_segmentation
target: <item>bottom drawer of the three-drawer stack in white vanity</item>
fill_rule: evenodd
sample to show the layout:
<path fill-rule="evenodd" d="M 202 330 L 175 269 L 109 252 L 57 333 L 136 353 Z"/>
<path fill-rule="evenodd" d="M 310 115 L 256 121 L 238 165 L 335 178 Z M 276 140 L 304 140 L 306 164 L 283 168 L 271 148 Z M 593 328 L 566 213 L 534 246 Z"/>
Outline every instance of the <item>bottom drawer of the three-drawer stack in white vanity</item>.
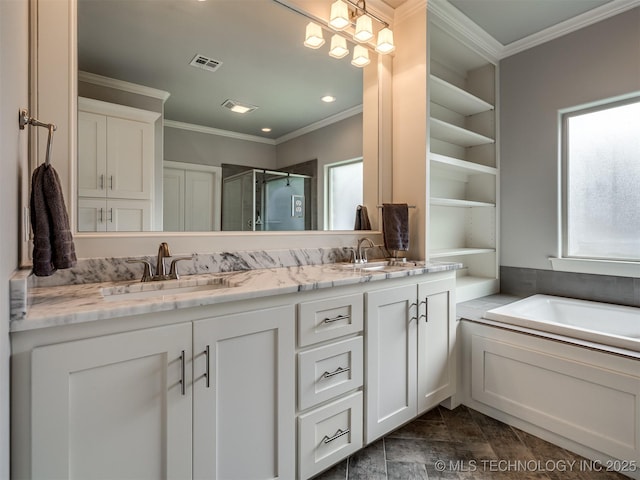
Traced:
<path fill-rule="evenodd" d="M 298 417 L 298 475 L 309 478 L 362 447 L 362 392 Z"/>

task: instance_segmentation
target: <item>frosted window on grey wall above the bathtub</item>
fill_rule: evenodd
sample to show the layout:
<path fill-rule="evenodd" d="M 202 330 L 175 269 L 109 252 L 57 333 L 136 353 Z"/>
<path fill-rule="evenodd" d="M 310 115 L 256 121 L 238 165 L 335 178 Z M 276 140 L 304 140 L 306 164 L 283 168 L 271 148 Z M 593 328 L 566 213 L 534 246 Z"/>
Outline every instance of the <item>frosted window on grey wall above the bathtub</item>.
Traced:
<path fill-rule="evenodd" d="M 565 257 L 640 261 L 640 97 L 564 113 Z"/>

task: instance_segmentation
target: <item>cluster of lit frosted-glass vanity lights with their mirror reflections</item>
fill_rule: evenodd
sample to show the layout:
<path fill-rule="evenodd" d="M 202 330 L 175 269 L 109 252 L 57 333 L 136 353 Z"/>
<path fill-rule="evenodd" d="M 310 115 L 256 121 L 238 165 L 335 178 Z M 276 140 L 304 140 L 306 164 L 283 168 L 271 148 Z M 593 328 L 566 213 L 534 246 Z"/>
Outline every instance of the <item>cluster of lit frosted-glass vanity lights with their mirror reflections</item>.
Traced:
<path fill-rule="evenodd" d="M 307 17 L 312 18 L 308 15 Z M 344 31 L 353 27 L 350 31 L 353 32 L 353 41 L 356 45 L 353 48 L 351 64 L 356 67 L 368 65 L 371 61 L 368 49 L 374 49 L 373 44 L 369 43 L 375 36 L 373 20 L 382 26 L 378 31 L 375 51 L 382 55 L 392 53 L 396 49 L 393 43 L 393 32 L 387 22 L 367 10 L 366 0 L 336 0 L 332 3 L 329 20 L 324 23 L 324 26 L 325 28 L 328 26 L 340 33 L 336 33 L 331 37 L 329 55 L 333 58 L 344 58 L 349 54 L 345 37 L 346 32 Z M 324 45 L 322 29 L 323 27 L 315 21 L 309 22 L 305 32 L 304 45 L 314 49 Z"/>

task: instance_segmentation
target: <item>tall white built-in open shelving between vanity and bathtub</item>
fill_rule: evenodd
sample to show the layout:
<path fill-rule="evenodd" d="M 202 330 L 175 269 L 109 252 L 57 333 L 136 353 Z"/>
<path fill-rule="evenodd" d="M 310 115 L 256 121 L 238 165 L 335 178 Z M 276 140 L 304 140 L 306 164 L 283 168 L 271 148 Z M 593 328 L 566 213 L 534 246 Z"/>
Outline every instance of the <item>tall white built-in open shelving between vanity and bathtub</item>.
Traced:
<path fill-rule="evenodd" d="M 428 31 L 428 251 L 464 265 L 460 302 L 499 291 L 497 65 L 437 17 Z"/>

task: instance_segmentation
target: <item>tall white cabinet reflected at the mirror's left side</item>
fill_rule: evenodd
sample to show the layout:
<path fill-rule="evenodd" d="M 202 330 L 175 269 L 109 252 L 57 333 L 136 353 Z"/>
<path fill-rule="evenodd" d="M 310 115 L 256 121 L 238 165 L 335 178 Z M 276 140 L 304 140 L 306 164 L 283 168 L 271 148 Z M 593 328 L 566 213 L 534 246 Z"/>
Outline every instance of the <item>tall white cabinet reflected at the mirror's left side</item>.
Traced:
<path fill-rule="evenodd" d="M 79 231 L 151 227 L 154 124 L 159 117 L 157 112 L 78 99 Z M 137 213 L 125 218 L 125 211 Z"/>

